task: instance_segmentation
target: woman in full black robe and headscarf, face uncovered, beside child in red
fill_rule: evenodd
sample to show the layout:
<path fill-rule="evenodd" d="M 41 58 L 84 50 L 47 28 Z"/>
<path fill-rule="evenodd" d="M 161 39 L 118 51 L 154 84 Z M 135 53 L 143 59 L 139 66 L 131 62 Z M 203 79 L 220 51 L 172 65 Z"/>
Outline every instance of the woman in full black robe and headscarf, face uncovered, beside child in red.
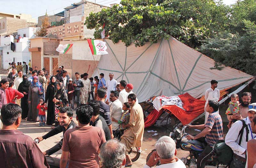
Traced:
<path fill-rule="evenodd" d="M 54 102 L 52 99 L 54 99 L 54 96 L 57 93 L 57 79 L 55 76 L 51 76 L 50 83 L 47 87 L 46 93 L 45 93 L 45 103 L 48 101 L 47 105 L 47 119 L 46 124 L 52 125 L 55 122 L 55 108 L 54 108 Z"/>

